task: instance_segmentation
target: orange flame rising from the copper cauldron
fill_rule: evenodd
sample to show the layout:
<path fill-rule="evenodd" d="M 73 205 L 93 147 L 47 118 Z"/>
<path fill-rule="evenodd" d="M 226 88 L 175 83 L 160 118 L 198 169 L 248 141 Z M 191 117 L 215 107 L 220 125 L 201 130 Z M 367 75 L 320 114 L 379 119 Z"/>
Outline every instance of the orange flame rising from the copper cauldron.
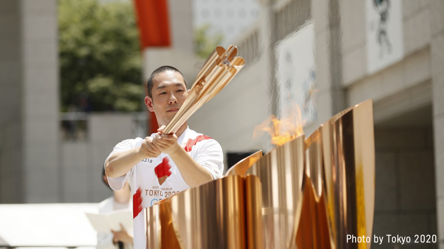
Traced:
<path fill-rule="evenodd" d="M 301 109 L 297 104 L 292 105 L 293 108 L 285 109 L 283 113 L 287 113 L 288 117 L 281 118 L 271 115 L 262 124 L 254 127 L 253 137 L 257 138 L 264 132 L 271 136 L 271 143 L 277 146 L 285 144 L 293 138 L 304 134 Z"/>

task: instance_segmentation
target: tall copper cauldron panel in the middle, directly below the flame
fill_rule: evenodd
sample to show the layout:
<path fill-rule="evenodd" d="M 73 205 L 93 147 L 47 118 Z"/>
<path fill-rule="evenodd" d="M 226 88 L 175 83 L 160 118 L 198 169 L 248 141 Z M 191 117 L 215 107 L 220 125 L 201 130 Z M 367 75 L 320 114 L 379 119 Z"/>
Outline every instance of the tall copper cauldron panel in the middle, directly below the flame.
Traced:
<path fill-rule="evenodd" d="M 302 205 L 304 136 L 266 153 L 247 171 L 262 185 L 262 245 L 295 247 Z"/>

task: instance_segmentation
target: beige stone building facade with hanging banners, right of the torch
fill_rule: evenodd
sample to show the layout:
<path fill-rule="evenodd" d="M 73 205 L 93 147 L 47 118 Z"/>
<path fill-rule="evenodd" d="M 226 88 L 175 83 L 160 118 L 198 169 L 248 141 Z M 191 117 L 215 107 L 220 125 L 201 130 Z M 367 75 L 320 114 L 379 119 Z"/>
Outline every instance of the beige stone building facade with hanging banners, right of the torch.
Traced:
<path fill-rule="evenodd" d="M 258 22 L 233 42 L 247 66 L 190 124 L 225 152 L 267 150 L 270 137 L 254 139 L 254 127 L 270 115 L 284 117 L 293 102 L 309 135 L 341 110 L 373 99 L 373 233 L 436 234 L 444 248 L 444 2 L 259 2 Z"/>

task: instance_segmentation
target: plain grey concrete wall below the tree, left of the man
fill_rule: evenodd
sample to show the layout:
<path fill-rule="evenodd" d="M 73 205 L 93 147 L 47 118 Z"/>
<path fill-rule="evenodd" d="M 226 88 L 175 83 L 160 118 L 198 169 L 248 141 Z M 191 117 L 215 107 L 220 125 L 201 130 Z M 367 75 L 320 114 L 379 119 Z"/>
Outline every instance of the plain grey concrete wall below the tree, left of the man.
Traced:
<path fill-rule="evenodd" d="M 102 181 L 105 159 L 116 144 L 135 138 L 133 115 L 91 114 L 86 141 L 61 144 L 60 202 L 100 202 L 112 195 Z"/>

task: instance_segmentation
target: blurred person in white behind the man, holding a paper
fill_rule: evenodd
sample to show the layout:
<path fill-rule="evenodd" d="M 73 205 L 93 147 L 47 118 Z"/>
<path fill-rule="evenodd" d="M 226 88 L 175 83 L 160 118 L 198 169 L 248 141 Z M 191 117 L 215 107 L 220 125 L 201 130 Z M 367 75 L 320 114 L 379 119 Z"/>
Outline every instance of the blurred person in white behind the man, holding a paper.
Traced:
<path fill-rule="evenodd" d="M 108 179 L 105 175 L 105 169 L 102 174 L 103 182 L 108 186 Z M 108 213 L 119 209 L 131 209 L 131 189 L 130 184 L 126 182 L 120 191 L 113 190 L 113 195 L 99 203 L 99 213 Z M 133 231 L 127 231 L 122 227 L 120 231 L 111 233 L 97 233 L 97 249 L 132 249 Z"/>

